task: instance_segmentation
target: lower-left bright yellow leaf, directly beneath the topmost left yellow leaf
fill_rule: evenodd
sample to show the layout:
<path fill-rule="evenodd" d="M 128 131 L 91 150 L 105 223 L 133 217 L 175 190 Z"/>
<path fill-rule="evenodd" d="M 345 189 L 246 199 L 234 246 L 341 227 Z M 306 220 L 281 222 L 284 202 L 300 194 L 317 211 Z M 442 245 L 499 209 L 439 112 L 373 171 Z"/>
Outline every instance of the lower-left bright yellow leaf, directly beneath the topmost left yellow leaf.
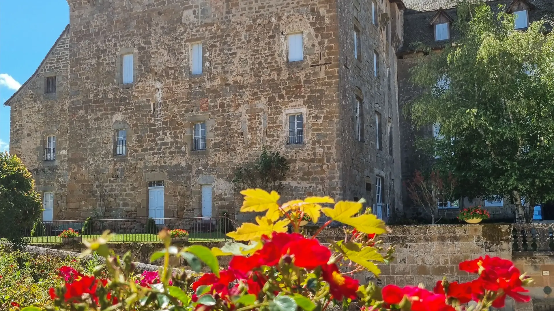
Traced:
<path fill-rule="evenodd" d="M 252 222 L 245 222 L 242 226 L 237 228 L 237 231 L 232 231 L 227 236 L 232 237 L 237 241 L 250 241 L 259 240 L 261 236 L 266 235 L 271 237 L 273 232 L 286 232 L 288 231 L 287 225 L 288 219 L 279 220 L 273 223 L 267 217 L 256 217 L 258 225 L 252 224 Z"/>

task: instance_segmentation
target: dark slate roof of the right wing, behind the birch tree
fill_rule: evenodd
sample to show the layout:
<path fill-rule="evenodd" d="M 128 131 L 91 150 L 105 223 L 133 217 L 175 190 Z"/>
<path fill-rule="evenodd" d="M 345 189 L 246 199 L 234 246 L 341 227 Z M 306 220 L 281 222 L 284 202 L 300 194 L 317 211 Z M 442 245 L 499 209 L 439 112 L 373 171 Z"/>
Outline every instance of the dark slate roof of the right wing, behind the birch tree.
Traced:
<path fill-rule="evenodd" d="M 458 0 L 404 0 L 406 11 L 404 11 L 404 44 L 398 50 L 399 54 L 407 54 L 416 50 L 417 44 L 423 43 L 430 48 L 440 48 L 442 43 L 435 42 L 433 26 L 429 24 L 439 8 L 452 18 L 456 17 L 456 2 Z M 529 11 L 529 21 L 535 22 L 544 19 L 548 31 L 554 28 L 554 0 L 527 0 L 534 4 L 535 9 Z M 494 11 L 497 11 L 498 4 L 504 4 L 505 7 L 512 3 L 512 0 L 485 0 Z M 456 38 L 457 34 L 452 32 L 451 38 Z"/>

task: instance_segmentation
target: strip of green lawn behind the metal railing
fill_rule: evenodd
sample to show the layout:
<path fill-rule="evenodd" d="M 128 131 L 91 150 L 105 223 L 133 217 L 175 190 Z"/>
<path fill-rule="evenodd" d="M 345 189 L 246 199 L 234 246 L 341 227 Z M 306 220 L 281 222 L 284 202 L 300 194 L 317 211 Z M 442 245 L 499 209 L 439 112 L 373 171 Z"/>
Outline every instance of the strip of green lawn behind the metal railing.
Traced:
<path fill-rule="evenodd" d="M 101 235 L 84 235 L 83 240 L 96 239 Z M 30 238 L 31 244 L 61 243 L 58 236 L 34 236 Z M 189 242 L 220 242 L 231 240 L 223 232 L 195 232 L 188 236 Z M 155 234 L 115 234 L 110 243 L 136 243 L 136 242 L 161 242 Z"/>

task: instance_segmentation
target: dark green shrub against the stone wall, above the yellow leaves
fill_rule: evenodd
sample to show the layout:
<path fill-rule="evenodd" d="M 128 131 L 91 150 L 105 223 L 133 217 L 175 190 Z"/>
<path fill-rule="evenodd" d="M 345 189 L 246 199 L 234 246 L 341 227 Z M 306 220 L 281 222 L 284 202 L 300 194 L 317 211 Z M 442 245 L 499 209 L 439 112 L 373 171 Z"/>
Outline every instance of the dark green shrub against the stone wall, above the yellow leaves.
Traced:
<path fill-rule="evenodd" d="M 253 163 L 247 163 L 237 169 L 233 184 L 237 190 L 260 188 L 267 191 L 279 191 L 286 174 L 290 170 L 286 158 L 279 152 L 263 148 L 260 157 Z"/>

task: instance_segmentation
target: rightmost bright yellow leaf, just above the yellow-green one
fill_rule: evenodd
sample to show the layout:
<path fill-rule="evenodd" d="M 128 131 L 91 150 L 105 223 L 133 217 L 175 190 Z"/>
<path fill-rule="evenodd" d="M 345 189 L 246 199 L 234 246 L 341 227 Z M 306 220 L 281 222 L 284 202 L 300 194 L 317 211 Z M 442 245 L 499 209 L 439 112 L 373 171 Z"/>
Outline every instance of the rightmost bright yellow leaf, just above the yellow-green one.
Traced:
<path fill-rule="evenodd" d="M 356 230 L 367 234 L 384 234 L 387 232 L 384 222 L 373 214 L 363 214 L 352 217 L 362 208 L 362 204 L 351 201 L 338 201 L 335 208 L 324 208 L 321 211 L 333 220 L 355 227 Z"/>

